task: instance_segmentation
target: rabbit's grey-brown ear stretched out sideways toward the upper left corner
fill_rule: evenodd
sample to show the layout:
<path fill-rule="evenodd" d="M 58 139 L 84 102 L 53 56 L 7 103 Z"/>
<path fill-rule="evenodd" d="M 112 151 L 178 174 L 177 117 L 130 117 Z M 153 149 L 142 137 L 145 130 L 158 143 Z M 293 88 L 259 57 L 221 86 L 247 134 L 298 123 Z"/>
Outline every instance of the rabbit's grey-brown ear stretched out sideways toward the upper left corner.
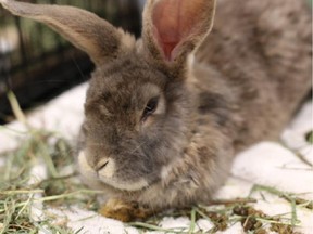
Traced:
<path fill-rule="evenodd" d="M 135 39 L 97 15 L 65 5 L 0 0 L 12 14 L 47 24 L 100 64 L 130 50 Z"/>

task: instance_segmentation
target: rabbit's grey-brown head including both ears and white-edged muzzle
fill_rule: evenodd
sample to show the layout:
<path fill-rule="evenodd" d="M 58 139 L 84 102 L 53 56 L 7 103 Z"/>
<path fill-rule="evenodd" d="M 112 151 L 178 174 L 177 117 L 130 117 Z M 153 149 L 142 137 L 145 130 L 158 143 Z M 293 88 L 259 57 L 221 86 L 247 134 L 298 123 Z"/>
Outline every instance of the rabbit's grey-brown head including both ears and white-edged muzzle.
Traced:
<path fill-rule="evenodd" d="M 76 8 L 0 2 L 46 23 L 96 64 L 77 156 L 87 183 L 130 192 L 162 180 L 195 133 L 188 56 L 211 30 L 215 1 L 148 0 L 138 41 Z"/>

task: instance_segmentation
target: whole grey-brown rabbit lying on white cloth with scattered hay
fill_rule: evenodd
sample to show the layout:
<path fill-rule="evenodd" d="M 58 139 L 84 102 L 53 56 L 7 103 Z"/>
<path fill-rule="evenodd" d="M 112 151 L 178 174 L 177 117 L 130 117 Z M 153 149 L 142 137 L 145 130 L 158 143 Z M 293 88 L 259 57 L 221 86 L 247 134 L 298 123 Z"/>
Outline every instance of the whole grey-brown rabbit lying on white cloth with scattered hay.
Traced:
<path fill-rule="evenodd" d="M 277 140 L 311 89 L 304 0 L 148 0 L 138 40 L 85 10 L 0 3 L 96 64 L 76 160 L 109 218 L 209 204 L 235 155 Z"/>

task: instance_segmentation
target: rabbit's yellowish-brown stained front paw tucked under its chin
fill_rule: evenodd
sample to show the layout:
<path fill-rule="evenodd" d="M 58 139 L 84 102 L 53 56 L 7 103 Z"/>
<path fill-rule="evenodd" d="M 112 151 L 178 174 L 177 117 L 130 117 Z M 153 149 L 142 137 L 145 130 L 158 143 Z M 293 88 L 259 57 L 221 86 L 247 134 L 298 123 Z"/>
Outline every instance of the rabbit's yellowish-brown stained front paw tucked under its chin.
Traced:
<path fill-rule="evenodd" d="M 152 211 L 140 207 L 136 202 L 110 199 L 100 208 L 99 213 L 107 218 L 129 222 L 147 219 L 152 214 Z"/>

